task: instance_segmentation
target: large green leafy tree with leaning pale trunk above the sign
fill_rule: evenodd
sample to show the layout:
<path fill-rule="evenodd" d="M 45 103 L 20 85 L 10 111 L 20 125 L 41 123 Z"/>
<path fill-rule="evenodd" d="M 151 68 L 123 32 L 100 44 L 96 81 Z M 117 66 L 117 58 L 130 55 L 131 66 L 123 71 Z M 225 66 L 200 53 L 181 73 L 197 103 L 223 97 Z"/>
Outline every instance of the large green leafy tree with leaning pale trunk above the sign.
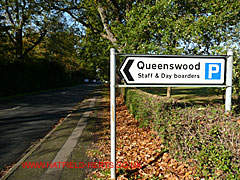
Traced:
<path fill-rule="evenodd" d="M 238 0 L 62 0 L 51 7 L 121 53 L 216 54 L 229 39 L 239 41 Z"/>

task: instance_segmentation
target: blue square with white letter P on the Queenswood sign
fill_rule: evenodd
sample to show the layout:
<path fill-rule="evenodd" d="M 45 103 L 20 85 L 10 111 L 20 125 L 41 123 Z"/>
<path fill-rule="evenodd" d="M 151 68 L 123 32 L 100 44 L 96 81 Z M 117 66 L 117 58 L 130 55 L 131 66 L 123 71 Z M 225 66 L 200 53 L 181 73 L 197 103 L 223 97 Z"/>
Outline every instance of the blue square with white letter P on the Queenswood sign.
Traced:
<path fill-rule="evenodd" d="M 221 63 L 205 63 L 205 79 L 221 79 Z"/>

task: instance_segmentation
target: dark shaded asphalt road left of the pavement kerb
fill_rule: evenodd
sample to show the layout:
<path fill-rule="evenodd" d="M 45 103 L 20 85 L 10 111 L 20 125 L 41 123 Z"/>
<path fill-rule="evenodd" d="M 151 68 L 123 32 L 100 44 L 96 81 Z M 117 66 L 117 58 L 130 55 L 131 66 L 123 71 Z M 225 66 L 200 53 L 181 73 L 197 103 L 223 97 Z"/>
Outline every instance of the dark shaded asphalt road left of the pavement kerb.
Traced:
<path fill-rule="evenodd" d="M 0 168 L 14 163 L 95 87 L 74 86 L 0 101 Z"/>

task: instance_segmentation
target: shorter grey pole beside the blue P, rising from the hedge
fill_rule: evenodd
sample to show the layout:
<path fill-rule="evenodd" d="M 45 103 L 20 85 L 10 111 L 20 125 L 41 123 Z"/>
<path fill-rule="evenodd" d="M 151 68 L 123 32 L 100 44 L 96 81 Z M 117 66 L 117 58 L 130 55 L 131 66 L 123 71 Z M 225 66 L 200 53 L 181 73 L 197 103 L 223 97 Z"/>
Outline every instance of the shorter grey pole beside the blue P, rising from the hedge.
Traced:
<path fill-rule="evenodd" d="M 233 50 L 227 51 L 227 72 L 226 72 L 226 94 L 225 94 L 225 112 L 231 111 L 232 103 L 232 68 L 233 68 Z"/>

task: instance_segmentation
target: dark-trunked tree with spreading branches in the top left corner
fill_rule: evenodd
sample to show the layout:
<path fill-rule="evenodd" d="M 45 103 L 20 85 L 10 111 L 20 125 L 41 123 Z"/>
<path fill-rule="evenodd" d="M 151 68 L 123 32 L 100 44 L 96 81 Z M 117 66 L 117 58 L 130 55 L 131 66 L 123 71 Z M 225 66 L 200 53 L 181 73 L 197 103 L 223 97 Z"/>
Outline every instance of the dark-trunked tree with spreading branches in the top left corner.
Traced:
<path fill-rule="evenodd" d="M 44 38 L 53 13 L 43 1 L 1 0 L 4 34 L 14 47 L 17 59 L 23 59 Z"/>

